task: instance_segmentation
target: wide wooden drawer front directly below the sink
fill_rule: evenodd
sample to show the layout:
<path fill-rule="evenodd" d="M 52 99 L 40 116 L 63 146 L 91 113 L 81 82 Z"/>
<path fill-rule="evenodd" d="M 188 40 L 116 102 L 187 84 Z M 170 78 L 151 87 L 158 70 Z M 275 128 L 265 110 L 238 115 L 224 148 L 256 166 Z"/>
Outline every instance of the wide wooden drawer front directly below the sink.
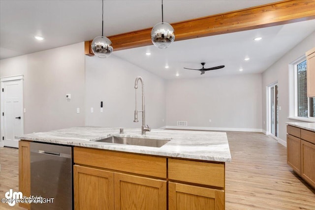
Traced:
<path fill-rule="evenodd" d="M 126 152 L 73 148 L 76 164 L 166 179 L 166 158 Z"/>

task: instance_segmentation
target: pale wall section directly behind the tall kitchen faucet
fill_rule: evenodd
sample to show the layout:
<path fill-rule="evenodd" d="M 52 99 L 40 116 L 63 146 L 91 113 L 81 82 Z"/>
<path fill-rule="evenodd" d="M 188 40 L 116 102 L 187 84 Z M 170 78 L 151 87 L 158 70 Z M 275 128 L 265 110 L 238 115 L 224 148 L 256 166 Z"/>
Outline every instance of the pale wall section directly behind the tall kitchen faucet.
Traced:
<path fill-rule="evenodd" d="M 133 122 L 134 81 L 137 76 L 141 76 L 145 84 L 146 123 L 152 128 L 165 126 L 164 79 L 114 54 L 106 59 L 88 56 L 85 59 L 86 125 L 141 128 L 141 113 L 138 114 L 139 122 Z M 138 87 L 139 111 L 141 110 L 141 85 Z M 100 113 L 101 101 L 103 101 L 103 113 Z M 91 113 L 91 107 L 94 113 Z"/>

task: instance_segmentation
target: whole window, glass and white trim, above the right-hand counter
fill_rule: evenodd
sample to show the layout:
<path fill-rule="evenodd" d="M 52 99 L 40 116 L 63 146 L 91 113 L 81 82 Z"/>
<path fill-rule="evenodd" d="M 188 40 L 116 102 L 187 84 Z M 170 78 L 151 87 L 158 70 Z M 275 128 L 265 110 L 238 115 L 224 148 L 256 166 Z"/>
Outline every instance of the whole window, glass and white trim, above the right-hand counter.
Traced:
<path fill-rule="evenodd" d="M 306 58 L 297 60 L 292 63 L 294 70 L 294 80 L 290 80 L 290 86 L 294 87 L 294 91 L 290 91 L 290 95 L 294 94 L 294 106 L 290 106 L 290 117 L 299 120 L 315 121 L 315 98 L 307 97 L 307 62 Z M 290 100 L 291 102 L 291 100 Z M 293 111 L 292 111 L 293 109 Z M 294 113 L 294 115 L 292 115 Z"/>

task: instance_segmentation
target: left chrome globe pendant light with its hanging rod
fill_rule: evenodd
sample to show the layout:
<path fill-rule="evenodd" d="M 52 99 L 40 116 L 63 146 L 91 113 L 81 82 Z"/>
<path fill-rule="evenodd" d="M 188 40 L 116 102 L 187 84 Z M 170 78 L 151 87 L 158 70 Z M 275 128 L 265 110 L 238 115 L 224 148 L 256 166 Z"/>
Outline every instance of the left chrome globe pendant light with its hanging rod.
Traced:
<path fill-rule="evenodd" d="M 92 41 L 92 51 L 98 58 L 107 58 L 109 57 L 114 48 L 112 46 L 111 40 L 106 36 L 103 36 L 103 28 L 104 28 L 104 0 L 102 0 L 102 35 L 95 37 Z"/>

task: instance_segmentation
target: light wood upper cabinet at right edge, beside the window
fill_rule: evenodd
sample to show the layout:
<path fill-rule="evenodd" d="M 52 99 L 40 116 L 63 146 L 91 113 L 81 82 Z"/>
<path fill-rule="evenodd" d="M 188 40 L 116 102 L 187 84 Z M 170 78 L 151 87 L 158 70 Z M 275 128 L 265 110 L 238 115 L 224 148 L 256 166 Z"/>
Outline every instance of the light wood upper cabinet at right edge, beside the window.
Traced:
<path fill-rule="evenodd" d="M 306 52 L 307 59 L 307 96 L 315 97 L 315 48 Z"/>

